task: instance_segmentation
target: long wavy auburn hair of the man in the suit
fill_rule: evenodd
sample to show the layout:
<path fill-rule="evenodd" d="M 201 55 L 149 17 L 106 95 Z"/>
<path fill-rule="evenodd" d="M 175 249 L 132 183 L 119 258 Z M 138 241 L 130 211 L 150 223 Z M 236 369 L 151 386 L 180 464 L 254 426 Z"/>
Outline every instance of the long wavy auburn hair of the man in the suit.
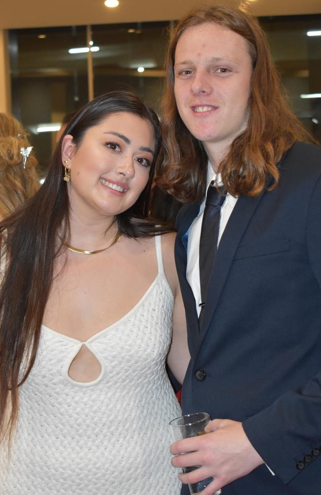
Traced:
<path fill-rule="evenodd" d="M 220 5 L 195 7 L 176 25 L 166 54 L 166 82 L 162 99 L 163 144 L 157 164 L 157 183 L 182 202 L 200 201 L 205 194 L 207 155 L 181 120 L 174 96 L 177 42 L 189 27 L 215 23 L 247 41 L 253 73 L 247 128 L 235 138 L 219 165 L 222 182 L 232 196 L 257 196 L 274 179 L 277 163 L 295 141 L 314 139 L 289 109 L 266 36 L 258 21 L 241 9 Z"/>

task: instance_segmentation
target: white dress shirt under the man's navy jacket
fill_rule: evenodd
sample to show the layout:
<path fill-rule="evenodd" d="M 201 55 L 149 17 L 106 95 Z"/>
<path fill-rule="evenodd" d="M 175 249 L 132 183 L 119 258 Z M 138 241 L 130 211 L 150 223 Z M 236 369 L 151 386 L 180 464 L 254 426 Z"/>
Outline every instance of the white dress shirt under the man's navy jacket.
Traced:
<path fill-rule="evenodd" d="M 207 188 L 211 181 L 216 181 L 218 185 L 220 184 L 220 175 L 213 172 L 210 163 L 207 165 Z M 238 198 L 234 198 L 229 193 L 227 194 L 225 201 L 221 207 L 221 218 L 218 234 L 218 244 L 221 240 L 222 234 L 226 227 L 226 224 L 230 218 L 234 206 L 236 205 Z M 200 238 L 201 238 L 201 224 L 203 219 L 203 213 L 205 208 L 205 198 L 200 206 L 200 211 L 198 216 L 194 219 L 188 233 L 187 242 L 187 266 L 186 266 L 186 278 L 190 284 L 195 302 L 198 316 L 200 316 L 201 307 L 201 284 L 200 284 Z"/>

